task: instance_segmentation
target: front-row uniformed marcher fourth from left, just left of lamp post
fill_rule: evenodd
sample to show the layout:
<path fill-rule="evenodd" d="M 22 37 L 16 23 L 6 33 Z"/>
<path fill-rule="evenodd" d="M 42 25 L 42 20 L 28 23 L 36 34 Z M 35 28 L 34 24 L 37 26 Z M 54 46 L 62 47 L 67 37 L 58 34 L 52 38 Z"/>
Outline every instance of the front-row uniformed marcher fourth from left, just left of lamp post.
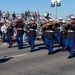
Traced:
<path fill-rule="evenodd" d="M 48 49 L 48 55 L 53 54 L 53 38 L 54 38 L 54 30 L 53 30 L 53 20 L 50 20 L 50 24 L 47 24 L 47 30 L 45 31 L 45 41 L 46 47 Z"/>

